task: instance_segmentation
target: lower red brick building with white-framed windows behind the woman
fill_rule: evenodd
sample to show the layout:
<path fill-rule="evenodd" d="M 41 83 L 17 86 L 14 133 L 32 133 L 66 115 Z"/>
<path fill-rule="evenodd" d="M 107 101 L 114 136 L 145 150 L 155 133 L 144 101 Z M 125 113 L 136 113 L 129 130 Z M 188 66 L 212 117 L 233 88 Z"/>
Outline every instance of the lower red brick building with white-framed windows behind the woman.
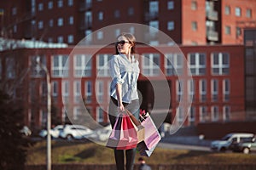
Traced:
<path fill-rule="evenodd" d="M 174 51 L 170 46 L 137 46 L 137 53 L 142 55 L 139 59 L 142 75 L 138 81 L 138 89 L 143 95 L 142 108 L 152 110 L 156 102 L 154 90 L 158 90 L 163 98 L 171 95 L 166 122 L 185 120 L 183 126 L 187 127 L 200 122 L 245 120 L 244 47 L 179 48 L 180 51 Z M 29 127 L 40 128 L 46 123 L 45 72 L 37 66 L 37 57 L 49 70 L 52 105 L 59 122 L 73 120 L 84 123 L 89 117 L 84 116 L 85 112 L 89 112 L 96 122 L 108 122 L 106 111 L 110 79 L 106 63 L 113 54 L 113 47 L 96 50 L 96 54 L 91 54 L 91 51 L 94 50 L 84 47 L 75 51 L 73 48 L 23 48 L 1 52 L 1 85 L 23 103 L 25 122 Z M 148 64 L 145 59 L 154 60 L 154 65 Z M 183 69 L 187 64 L 192 74 L 189 79 L 183 78 L 188 75 Z M 152 88 L 152 82 L 161 87 L 164 79 L 160 77 L 160 72 L 164 74 L 170 92 Z M 183 97 L 186 91 L 188 95 Z M 185 114 L 188 110 L 177 111 L 180 99 L 192 99 L 189 117 Z M 165 111 L 160 105 L 153 114 Z"/>

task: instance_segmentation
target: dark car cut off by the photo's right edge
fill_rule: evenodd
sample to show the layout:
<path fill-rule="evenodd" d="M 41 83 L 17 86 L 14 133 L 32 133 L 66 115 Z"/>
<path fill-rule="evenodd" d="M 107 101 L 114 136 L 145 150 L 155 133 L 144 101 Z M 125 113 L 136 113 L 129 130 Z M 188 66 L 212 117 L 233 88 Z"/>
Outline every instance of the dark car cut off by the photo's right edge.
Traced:
<path fill-rule="evenodd" d="M 251 152 L 256 152 L 256 139 L 255 137 L 244 140 L 239 144 L 235 144 L 233 148 L 234 152 L 242 152 L 244 154 L 249 154 Z"/>

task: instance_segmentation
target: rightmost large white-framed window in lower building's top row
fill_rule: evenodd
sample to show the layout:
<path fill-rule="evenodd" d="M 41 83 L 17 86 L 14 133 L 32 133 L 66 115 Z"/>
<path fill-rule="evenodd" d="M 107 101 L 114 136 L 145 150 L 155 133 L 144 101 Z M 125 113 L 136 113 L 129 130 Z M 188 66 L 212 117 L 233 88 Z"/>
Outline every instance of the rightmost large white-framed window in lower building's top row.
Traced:
<path fill-rule="evenodd" d="M 230 73 L 230 55 L 226 53 L 212 54 L 212 74 L 227 75 Z"/>

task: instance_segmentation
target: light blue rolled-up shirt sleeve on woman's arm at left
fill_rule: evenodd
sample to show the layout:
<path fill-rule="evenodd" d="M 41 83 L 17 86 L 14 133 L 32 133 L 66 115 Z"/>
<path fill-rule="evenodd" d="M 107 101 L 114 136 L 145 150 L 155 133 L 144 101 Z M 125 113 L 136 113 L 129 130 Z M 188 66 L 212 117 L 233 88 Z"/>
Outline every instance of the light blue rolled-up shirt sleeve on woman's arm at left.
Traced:
<path fill-rule="evenodd" d="M 113 55 L 109 62 L 109 72 L 112 77 L 112 86 L 115 86 L 117 83 L 123 84 L 125 81 L 121 77 L 119 69 L 119 59 L 116 55 Z"/>

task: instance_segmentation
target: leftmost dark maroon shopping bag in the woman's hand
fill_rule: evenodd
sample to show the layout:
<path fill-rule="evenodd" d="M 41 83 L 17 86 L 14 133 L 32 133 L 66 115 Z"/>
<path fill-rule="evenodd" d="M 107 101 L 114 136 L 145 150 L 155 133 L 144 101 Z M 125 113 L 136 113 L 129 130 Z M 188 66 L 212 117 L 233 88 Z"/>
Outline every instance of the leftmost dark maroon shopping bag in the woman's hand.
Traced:
<path fill-rule="evenodd" d="M 121 132 L 121 125 L 122 125 L 122 116 L 117 116 L 113 129 L 108 137 L 107 147 L 115 149 L 119 143 L 120 132 Z"/>

